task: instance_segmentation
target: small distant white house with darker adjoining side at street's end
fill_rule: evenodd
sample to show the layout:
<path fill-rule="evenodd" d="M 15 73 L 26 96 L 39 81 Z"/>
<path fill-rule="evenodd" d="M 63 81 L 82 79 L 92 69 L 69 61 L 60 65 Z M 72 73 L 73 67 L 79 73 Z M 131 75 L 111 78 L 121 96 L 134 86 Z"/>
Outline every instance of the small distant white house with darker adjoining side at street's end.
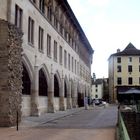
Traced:
<path fill-rule="evenodd" d="M 108 78 L 92 79 L 91 98 L 108 100 Z"/>

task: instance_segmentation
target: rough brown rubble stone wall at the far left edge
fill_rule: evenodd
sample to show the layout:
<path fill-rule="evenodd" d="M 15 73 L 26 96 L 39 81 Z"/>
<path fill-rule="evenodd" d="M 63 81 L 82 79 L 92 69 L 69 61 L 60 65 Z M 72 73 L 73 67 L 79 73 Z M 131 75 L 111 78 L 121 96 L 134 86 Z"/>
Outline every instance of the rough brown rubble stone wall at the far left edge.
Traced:
<path fill-rule="evenodd" d="M 16 125 L 21 120 L 22 32 L 0 20 L 0 126 Z"/>

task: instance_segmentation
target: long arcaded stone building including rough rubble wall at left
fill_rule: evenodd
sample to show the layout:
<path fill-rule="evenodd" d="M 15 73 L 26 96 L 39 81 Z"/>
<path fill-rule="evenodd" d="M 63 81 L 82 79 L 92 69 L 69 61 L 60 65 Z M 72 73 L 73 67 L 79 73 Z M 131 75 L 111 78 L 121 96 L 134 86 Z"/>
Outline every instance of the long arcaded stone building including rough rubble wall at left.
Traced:
<path fill-rule="evenodd" d="M 0 0 L 0 125 L 78 107 L 92 55 L 67 0 Z"/>

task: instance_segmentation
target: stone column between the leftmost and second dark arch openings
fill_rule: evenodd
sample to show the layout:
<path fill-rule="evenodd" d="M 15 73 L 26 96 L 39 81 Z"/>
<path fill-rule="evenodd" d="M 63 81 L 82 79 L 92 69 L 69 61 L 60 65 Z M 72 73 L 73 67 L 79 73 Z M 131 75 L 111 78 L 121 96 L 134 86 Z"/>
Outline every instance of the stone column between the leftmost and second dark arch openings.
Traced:
<path fill-rule="evenodd" d="M 38 66 L 34 66 L 34 77 L 31 91 L 31 115 L 39 116 L 39 71 Z"/>

